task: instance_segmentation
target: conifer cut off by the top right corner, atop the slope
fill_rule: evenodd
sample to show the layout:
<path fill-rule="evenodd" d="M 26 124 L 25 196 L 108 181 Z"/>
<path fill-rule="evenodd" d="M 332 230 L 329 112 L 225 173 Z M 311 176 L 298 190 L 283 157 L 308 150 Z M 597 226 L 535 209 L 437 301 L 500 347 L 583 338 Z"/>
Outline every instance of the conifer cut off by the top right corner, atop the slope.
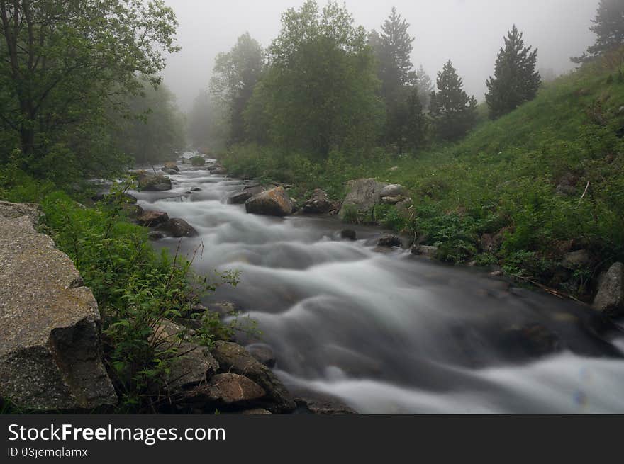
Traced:
<path fill-rule="evenodd" d="M 594 26 L 589 30 L 597 35 L 596 42 L 581 57 L 572 57 L 572 62 L 581 63 L 624 45 L 624 1 L 600 0 Z"/>

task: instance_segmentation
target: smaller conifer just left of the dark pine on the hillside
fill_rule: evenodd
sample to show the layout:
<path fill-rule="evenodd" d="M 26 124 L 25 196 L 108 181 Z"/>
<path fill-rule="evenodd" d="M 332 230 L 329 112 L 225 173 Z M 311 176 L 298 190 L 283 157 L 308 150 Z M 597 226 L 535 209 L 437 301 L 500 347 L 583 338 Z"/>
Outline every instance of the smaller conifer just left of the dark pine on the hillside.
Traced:
<path fill-rule="evenodd" d="M 442 140 L 457 140 L 477 120 L 477 100 L 464 91 L 464 83 L 449 60 L 438 72 L 438 92 L 431 94 L 430 114 Z"/>

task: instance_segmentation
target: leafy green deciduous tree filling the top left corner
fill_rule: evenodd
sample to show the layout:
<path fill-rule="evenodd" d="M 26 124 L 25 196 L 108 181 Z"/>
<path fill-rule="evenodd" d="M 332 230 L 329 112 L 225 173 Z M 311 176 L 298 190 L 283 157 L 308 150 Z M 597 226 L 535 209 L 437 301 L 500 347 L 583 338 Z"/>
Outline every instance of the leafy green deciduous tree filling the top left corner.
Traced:
<path fill-rule="evenodd" d="M 45 171 L 55 153 L 96 166 L 86 140 L 101 135 L 107 103 L 160 82 L 176 27 L 161 0 L 0 0 L 0 123 L 24 167 Z"/>

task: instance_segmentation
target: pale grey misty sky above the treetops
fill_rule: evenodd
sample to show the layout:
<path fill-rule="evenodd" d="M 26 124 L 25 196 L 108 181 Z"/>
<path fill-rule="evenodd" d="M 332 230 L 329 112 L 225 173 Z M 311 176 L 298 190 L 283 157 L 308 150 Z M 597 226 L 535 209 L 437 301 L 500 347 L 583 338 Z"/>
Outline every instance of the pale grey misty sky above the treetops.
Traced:
<path fill-rule="evenodd" d="M 248 31 L 269 45 L 279 33 L 280 15 L 304 0 L 165 0 L 179 21 L 182 51 L 169 57 L 165 84 L 184 111 L 199 89 L 207 88 L 214 58 L 227 52 Z M 355 23 L 376 28 L 396 9 L 416 37 L 412 61 L 435 74 L 449 58 L 464 85 L 484 99 L 485 80 L 494 72 L 496 53 L 513 23 L 525 43 L 539 49 L 538 67 L 557 73 L 573 69 L 569 57 L 580 55 L 594 41 L 589 31 L 598 0 L 347 0 Z M 324 0 L 318 0 L 323 6 Z"/>

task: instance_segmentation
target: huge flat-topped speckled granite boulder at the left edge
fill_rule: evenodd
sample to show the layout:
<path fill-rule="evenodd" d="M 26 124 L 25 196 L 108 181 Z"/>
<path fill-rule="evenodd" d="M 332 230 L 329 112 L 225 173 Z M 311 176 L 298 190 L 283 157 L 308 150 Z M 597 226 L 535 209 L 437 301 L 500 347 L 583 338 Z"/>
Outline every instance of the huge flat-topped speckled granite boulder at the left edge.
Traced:
<path fill-rule="evenodd" d="M 26 214 L 0 216 L 0 397 L 38 411 L 116 404 L 93 293 Z"/>

